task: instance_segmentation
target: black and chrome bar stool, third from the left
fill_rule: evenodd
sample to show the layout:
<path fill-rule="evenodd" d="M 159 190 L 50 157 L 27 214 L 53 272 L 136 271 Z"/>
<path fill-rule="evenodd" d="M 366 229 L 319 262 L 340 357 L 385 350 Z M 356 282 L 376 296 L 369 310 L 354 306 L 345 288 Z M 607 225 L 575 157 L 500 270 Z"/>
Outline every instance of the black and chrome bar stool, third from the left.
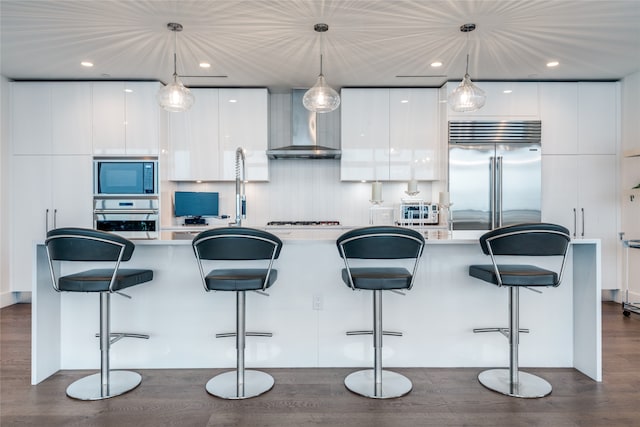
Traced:
<path fill-rule="evenodd" d="M 413 387 L 404 375 L 382 369 L 382 336 L 402 336 L 400 332 L 382 329 L 382 291 L 400 292 L 413 287 L 424 243 L 424 237 L 419 232 L 394 226 L 351 230 L 336 241 L 345 263 L 342 269 L 344 283 L 352 290 L 373 291 L 373 331 L 347 332 L 347 335 L 373 335 L 373 369 L 353 372 L 344 380 L 347 389 L 356 394 L 387 399 L 403 396 Z M 376 260 L 375 266 L 363 266 L 369 263 L 359 262 L 358 259 Z M 412 260 L 411 271 L 398 266 L 397 261 L 390 261 L 403 259 Z"/>

